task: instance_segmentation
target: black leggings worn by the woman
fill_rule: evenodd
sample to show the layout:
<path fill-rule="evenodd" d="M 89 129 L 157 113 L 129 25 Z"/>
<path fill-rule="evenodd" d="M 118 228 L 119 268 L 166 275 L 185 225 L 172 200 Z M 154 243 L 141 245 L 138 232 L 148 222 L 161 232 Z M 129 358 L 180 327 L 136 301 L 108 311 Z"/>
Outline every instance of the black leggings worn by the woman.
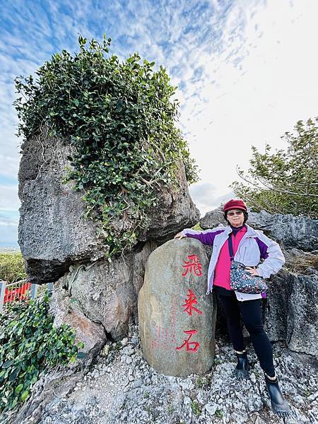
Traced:
<path fill-rule="evenodd" d="M 249 332 L 257 358 L 261 368 L 267 375 L 273 377 L 275 369 L 273 366 L 273 351 L 271 342 L 264 331 L 261 322 L 261 300 L 245 300 L 239 302 L 235 296 L 218 295 L 225 310 L 228 323 L 228 332 L 235 351 L 244 351 L 245 343 L 240 327 L 240 317 Z"/>

